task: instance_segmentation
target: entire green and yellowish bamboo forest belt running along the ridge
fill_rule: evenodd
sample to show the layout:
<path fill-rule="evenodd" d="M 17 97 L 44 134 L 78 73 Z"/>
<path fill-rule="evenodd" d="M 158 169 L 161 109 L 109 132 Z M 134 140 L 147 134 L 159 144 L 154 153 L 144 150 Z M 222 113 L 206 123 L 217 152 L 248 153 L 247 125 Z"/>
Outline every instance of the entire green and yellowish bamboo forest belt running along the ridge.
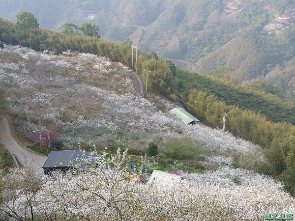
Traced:
<path fill-rule="evenodd" d="M 67 49 L 94 53 L 131 66 L 130 41 L 115 43 L 95 36 L 67 35 L 39 28 L 34 20 L 31 20 L 34 26 L 21 25 L 22 21 L 23 19 L 20 18 L 15 24 L 0 19 L 0 32 L 3 32 L 5 43 L 31 47 L 35 50 L 50 50 L 54 53 Z M 293 176 L 295 173 L 295 126 L 290 123 L 273 123 L 266 120 L 266 116 L 275 117 L 278 112 L 287 111 L 286 116 L 281 117 L 291 122 L 294 119 L 294 112 L 288 112 L 288 108 L 292 108 L 291 104 L 254 89 L 247 90 L 244 87 L 231 86 L 213 77 L 202 77 L 195 72 L 176 68 L 173 62 L 159 59 L 155 53 L 139 52 L 137 65 L 144 83 L 145 70 L 152 72 L 149 76 L 149 91 L 181 102 L 208 125 L 220 127 L 222 117 L 227 112 L 227 130 L 238 137 L 265 147 L 269 164 L 255 169 L 283 180 L 286 189 L 295 194 Z M 222 69 L 212 74 L 218 77 L 224 72 L 226 71 Z M 249 96 L 251 99 L 247 98 Z M 269 104 L 271 105 L 265 113 L 266 116 L 257 112 L 260 110 L 260 105 L 266 109 Z"/>

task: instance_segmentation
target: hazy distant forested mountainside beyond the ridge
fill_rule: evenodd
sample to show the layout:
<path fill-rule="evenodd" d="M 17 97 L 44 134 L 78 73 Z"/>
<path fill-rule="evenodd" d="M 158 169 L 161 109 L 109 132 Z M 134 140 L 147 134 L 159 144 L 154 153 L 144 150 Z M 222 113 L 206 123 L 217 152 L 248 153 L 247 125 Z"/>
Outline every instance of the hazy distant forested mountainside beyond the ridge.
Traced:
<path fill-rule="evenodd" d="M 237 83 L 257 80 L 270 87 L 268 92 L 295 98 L 295 76 L 288 72 L 295 56 L 294 0 L 0 0 L 0 4 L 0 16 L 12 20 L 25 10 L 35 14 L 44 28 L 61 30 L 64 23 L 91 22 L 105 39 L 129 38 L 145 51 L 202 74 L 220 66 L 232 68 Z M 291 21 L 277 21 L 280 15 Z"/>

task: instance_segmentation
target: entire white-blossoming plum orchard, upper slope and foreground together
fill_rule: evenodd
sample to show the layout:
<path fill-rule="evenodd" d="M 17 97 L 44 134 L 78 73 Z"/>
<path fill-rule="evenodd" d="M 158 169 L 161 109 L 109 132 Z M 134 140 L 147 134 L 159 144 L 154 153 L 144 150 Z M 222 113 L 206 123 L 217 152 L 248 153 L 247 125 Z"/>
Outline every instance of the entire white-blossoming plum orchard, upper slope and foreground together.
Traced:
<path fill-rule="evenodd" d="M 145 172 L 129 171 L 126 153 L 118 151 L 112 157 L 93 154 L 91 162 L 97 167 L 87 173 L 38 178 L 29 168 L 1 172 L 4 220 L 262 220 L 267 212 L 295 213 L 295 200 L 282 184 L 234 168 L 236 154 L 263 161 L 259 146 L 219 129 L 183 125 L 169 114 L 175 104 L 139 98 L 132 76 L 108 58 L 8 45 L 0 57 L 0 84 L 24 136 L 38 130 L 39 105 L 41 129 L 57 131 L 68 148 L 78 142 L 99 147 L 116 140 L 145 150 L 151 141 L 189 137 L 196 148 L 210 153 L 203 156 L 206 164 L 217 168 L 183 174 L 183 182 L 169 187 L 148 186 Z M 32 178 L 37 182 L 30 182 Z"/>

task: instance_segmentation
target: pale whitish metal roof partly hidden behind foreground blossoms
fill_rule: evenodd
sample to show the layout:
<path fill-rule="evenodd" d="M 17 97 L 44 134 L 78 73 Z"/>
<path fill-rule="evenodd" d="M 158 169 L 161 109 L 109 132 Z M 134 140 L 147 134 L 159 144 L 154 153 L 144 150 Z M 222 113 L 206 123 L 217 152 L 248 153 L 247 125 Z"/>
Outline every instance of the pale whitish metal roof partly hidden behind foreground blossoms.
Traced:
<path fill-rule="evenodd" d="M 160 170 L 154 170 L 152 171 L 152 174 L 150 175 L 148 179 L 148 184 L 151 184 L 155 182 L 156 184 L 161 184 L 164 186 L 169 186 L 172 184 L 174 180 L 181 180 L 183 177 L 172 174 L 172 173 L 167 173 L 164 171 Z"/>

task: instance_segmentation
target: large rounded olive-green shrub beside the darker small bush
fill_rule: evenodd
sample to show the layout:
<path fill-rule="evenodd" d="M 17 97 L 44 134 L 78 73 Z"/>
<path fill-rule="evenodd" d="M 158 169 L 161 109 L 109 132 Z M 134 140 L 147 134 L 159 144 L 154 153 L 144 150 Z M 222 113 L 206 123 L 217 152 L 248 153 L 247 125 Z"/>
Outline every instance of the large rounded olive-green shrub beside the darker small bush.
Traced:
<path fill-rule="evenodd" d="M 188 160 L 195 157 L 195 148 L 191 138 L 169 138 L 165 143 L 167 157 Z"/>

